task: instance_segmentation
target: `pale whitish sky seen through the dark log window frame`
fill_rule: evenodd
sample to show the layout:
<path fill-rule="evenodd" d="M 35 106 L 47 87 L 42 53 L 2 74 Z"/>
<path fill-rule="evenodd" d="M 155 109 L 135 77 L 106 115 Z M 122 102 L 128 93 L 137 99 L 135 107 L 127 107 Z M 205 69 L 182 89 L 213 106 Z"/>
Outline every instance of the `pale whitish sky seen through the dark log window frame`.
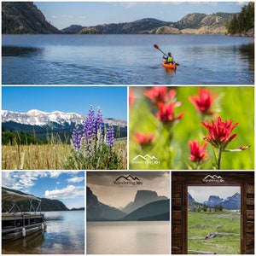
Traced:
<path fill-rule="evenodd" d="M 189 186 L 188 192 L 197 202 L 207 201 L 210 195 L 218 195 L 226 199 L 237 192 L 241 194 L 241 188 L 238 186 Z"/>

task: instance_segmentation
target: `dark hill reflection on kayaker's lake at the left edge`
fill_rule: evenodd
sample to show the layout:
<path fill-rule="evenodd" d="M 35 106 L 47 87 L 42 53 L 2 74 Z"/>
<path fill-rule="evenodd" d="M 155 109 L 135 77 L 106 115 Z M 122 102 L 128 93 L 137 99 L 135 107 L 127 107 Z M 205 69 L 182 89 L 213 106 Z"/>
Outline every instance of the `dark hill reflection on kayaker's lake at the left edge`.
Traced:
<path fill-rule="evenodd" d="M 35 47 L 19 47 L 19 46 L 3 46 L 3 56 L 26 56 L 26 55 L 39 55 L 43 54 L 43 48 Z"/>

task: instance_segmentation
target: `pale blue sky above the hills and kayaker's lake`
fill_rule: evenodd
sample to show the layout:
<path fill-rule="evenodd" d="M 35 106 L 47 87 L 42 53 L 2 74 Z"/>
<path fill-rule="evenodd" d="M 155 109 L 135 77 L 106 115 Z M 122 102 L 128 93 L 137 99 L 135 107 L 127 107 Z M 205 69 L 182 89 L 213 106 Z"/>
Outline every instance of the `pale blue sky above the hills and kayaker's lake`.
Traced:
<path fill-rule="evenodd" d="M 155 18 L 177 21 L 191 13 L 236 13 L 247 2 L 35 2 L 53 26 L 96 26 Z"/>

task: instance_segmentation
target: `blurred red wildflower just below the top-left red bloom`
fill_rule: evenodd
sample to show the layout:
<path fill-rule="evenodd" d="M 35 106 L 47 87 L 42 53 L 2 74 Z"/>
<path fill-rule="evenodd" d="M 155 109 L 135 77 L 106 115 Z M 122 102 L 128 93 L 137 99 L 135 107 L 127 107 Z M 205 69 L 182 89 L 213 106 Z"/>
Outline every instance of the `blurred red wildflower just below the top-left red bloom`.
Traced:
<path fill-rule="evenodd" d="M 159 113 L 157 114 L 157 118 L 160 119 L 163 123 L 172 123 L 175 120 L 182 119 L 184 113 L 180 113 L 177 117 L 174 116 L 174 108 L 176 102 L 171 103 L 158 103 Z"/>

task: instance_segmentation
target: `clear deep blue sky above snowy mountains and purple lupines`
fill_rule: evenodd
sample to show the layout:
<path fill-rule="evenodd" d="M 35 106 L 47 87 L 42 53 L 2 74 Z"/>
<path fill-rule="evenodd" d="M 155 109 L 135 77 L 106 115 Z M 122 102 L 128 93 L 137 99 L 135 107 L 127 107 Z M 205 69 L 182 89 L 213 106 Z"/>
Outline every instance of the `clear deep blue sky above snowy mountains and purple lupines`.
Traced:
<path fill-rule="evenodd" d="M 3 86 L 2 109 L 25 113 L 74 112 L 87 115 L 90 105 L 100 107 L 104 118 L 127 120 L 125 86 Z"/>

